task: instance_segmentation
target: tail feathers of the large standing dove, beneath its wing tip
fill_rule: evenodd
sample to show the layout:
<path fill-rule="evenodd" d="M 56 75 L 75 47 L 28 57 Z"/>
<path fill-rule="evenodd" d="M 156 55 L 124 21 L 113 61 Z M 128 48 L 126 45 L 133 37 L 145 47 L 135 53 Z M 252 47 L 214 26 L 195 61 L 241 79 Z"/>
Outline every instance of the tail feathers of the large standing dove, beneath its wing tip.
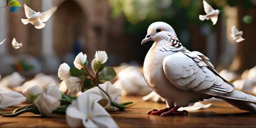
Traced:
<path fill-rule="evenodd" d="M 220 99 L 224 99 L 231 105 L 249 112 L 256 112 L 256 97 L 246 94 L 244 92 L 234 90 L 233 94 L 227 96 L 218 96 Z"/>

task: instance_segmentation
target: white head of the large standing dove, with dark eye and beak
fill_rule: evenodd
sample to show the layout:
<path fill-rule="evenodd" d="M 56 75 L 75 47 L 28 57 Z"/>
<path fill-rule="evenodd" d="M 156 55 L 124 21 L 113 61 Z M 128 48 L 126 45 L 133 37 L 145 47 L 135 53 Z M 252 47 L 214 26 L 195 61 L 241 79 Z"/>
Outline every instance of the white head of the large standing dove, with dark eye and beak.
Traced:
<path fill-rule="evenodd" d="M 160 42 L 166 40 L 166 36 L 176 36 L 173 28 L 166 22 L 154 22 L 148 27 L 146 38 L 141 41 L 141 45 L 152 40 Z M 177 36 L 176 36 L 177 37 Z"/>

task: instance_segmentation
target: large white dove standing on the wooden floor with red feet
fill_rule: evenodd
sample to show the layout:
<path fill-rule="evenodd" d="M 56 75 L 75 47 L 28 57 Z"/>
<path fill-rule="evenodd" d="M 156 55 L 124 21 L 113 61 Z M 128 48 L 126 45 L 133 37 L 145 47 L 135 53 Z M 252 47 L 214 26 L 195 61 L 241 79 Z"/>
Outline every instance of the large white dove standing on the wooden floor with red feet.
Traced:
<path fill-rule="evenodd" d="M 148 27 L 146 38 L 155 41 L 144 61 L 146 83 L 166 100 L 167 108 L 153 109 L 147 114 L 180 115 L 180 107 L 211 97 L 223 99 L 242 110 L 256 112 L 256 97 L 234 89 L 214 70 L 209 58 L 190 52 L 177 38 L 173 28 L 165 22 L 154 22 Z"/>

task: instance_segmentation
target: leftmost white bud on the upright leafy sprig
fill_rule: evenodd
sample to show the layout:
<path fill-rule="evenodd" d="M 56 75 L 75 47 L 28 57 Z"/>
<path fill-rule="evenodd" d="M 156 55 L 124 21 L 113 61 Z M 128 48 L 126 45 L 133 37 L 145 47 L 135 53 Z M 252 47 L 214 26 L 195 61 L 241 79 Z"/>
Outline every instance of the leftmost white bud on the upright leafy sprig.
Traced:
<path fill-rule="evenodd" d="M 67 65 L 67 63 L 63 63 L 58 68 L 58 77 L 61 80 L 66 80 L 71 77 L 70 75 L 70 66 Z"/>

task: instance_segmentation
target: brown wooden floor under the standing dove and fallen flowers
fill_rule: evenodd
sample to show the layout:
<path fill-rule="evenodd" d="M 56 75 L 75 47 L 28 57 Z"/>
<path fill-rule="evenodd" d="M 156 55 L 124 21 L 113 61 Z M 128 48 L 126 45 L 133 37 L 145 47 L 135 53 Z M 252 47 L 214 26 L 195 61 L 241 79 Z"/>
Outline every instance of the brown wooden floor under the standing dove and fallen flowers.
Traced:
<path fill-rule="evenodd" d="M 152 108 L 165 108 L 164 103 L 144 102 L 141 97 L 124 97 L 123 101 L 134 101 L 125 111 L 111 113 L 121 128 L 256 128 L 256 114 L 238 110 L 224 101 L 211 102 L 204 110 L 189 112 L 189 115 L 146 115 Z M 209 103 L 209 101 L 204 101 Z M 18 117 L 0 117 L 0 127 L 20 128 L 67 128 L 65 116 L 45 118 L 30 113 Z"/>

